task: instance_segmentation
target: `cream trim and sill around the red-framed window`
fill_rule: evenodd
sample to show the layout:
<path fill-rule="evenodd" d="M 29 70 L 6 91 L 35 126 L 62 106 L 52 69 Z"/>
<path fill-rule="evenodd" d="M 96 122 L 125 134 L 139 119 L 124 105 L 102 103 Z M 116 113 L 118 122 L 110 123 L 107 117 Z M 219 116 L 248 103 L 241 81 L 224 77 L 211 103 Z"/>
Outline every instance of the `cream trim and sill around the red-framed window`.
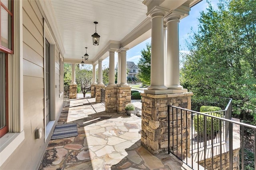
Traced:
<path fill-rule="evenodd" d="M 0 138 L 0 169 L 2 164 L 25 139 L 23 129 L 22 28 L 22 1 L 14 0 L 14 55 L 8 57 L 9 132 Z"/>

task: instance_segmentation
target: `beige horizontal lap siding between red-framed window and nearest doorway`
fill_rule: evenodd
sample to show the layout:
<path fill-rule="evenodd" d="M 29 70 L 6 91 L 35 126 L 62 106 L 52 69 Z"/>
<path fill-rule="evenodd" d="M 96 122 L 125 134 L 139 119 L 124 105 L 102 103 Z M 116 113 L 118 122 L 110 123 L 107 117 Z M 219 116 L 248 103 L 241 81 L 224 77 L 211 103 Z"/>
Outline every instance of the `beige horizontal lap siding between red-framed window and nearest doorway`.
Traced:
<path fill-rule="evenodd" d="M 42 128 L 44 131 L 44 27 L 36 3 L 23 0 L 22 4 L 25 139 L 1 168 L 28 170 L 38 168 L 46 145 L 44 136 L 35 138 L 36 129 Z"/>

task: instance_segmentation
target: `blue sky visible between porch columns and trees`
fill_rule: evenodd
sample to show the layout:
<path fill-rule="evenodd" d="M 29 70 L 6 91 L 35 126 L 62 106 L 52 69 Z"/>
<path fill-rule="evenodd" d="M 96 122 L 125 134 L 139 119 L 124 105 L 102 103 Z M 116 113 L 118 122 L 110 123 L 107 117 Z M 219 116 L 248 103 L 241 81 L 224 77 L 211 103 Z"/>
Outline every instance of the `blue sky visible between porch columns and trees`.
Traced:
<path fill-rule="evenodd" d="M 217 9 L 217 3 L 219 0 L 209 0 L 214 7 Z M 189 16 L 180 20 L 179 24 L 179 43 L 180 43 L 180 51 L 187 52 L 188 48 L 186 47 L 186 40 L 189 40 L 189 37 L 193 35 L 193 32 L 198 30 L 198 18 L 200 16 L 201 11 L 205 11 L 208 4 L 206 0 L 203 0 L 199 4 L 195 5 L 191 8 Z M 138 63 L 141 57 L 141 50 L 146 49 L 146 43 L 151 43 L 151 38 L 148 40 L 136 45 L 135 47 L 129 49 L 126 54 L 126 61 L 134 61 L 135 64 Z M 117 53 L 115 54 L 115 65 L 117 63 Z M 103 67 L 108 67 L 109 57 L 102 61 Z"/>

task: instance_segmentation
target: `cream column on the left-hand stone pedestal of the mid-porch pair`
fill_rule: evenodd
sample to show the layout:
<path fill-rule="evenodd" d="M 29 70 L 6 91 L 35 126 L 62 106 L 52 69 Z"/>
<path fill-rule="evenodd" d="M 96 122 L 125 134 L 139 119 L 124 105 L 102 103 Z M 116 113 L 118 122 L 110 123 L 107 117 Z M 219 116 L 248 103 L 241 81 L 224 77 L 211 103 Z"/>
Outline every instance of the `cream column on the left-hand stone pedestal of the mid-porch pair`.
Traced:
<path fill-rule="evenodd" d="M 115 50 L 109 50 L 109 74 L 108 86 L 116 86 L 115 84 Z"/>

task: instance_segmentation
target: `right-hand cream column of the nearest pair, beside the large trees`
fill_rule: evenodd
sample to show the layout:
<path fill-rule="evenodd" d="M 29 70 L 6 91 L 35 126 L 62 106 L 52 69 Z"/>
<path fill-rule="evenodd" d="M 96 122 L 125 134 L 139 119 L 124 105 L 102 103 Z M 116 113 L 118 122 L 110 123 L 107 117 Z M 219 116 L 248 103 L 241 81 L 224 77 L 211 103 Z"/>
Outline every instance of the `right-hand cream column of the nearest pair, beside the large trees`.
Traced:
<path fill-rule="evenodd" d="M 167 62 L 166 86 L 168 89 L 182 89 L 180 85 L 179 58 L 179 15 L 170 15 L 167 20 Z"/>

